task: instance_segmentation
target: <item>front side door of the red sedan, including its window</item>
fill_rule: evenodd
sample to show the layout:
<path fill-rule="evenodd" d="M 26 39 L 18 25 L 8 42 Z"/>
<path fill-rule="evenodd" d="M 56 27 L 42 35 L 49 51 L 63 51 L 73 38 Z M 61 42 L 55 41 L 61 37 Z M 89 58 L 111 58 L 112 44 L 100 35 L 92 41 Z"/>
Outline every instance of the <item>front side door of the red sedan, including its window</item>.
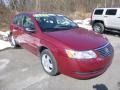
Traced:
<path fill-rule="evenodd" d="M 23 16 L 23 27 L 24 33 L 22 38 L 24 38 L 24 48 L 29 50 L 30 52 L 37 54 L 38 47 L 36 46 L 36 40 L 39 42 L 39 39 L 36 37 L 36 27 L 32 20 L 32 18 L 28 15 Z"/>

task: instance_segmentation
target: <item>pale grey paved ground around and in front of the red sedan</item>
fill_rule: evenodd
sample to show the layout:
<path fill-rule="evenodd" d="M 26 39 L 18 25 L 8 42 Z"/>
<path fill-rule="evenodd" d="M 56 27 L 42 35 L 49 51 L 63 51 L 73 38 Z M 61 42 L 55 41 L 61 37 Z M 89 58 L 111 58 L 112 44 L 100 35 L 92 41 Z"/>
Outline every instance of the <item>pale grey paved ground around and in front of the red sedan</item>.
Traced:
<path fill-rule="evenodd" d="M 120 90 L 120 37 L 106 36 L 115 49 L 113 63 L 104 74 L 89 80 L 49 76 L 39 58 L 21 48 L 0 51 L 0 90 Z"/>

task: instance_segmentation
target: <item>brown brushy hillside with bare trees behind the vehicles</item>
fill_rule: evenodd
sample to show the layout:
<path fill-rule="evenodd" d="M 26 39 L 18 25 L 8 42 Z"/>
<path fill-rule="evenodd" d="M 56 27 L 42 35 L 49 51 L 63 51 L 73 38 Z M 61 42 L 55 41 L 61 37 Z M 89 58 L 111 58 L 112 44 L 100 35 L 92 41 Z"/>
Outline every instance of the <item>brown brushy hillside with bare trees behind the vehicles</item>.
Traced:
<path fill-rule="evenodd" d="M 13 12 L 43 11 L 84 19 L 90 17 L 96 7 L 120 7 L 120 0 L 10 0 L 8 7 L 0 0 L 0 27 L 9 24 Z"/>

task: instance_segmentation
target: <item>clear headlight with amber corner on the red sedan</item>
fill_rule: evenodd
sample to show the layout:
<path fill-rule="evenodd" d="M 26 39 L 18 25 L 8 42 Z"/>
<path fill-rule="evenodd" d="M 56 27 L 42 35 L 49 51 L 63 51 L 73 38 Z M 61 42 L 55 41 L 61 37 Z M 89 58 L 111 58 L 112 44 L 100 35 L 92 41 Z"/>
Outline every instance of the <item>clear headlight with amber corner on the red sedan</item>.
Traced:
<path fill-rule="evenodd" d="M 65 51 L 68 57 L 73 59 L 92 59 L 97 57 L 95 52 L 93 52 L 92 50 L 89 51 L 65 50 Z"/>

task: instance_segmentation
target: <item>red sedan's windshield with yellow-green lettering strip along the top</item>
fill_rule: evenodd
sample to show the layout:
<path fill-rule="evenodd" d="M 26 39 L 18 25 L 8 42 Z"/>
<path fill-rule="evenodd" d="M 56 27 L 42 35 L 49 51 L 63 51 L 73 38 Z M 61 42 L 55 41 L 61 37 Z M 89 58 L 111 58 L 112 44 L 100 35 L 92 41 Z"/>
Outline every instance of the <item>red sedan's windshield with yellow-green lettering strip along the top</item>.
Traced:
<path fill-rule="evenodd" d="M 78 28 L 77 24 L 63 15 L 34 14 L 43 32 L 71 30 Z"/>

